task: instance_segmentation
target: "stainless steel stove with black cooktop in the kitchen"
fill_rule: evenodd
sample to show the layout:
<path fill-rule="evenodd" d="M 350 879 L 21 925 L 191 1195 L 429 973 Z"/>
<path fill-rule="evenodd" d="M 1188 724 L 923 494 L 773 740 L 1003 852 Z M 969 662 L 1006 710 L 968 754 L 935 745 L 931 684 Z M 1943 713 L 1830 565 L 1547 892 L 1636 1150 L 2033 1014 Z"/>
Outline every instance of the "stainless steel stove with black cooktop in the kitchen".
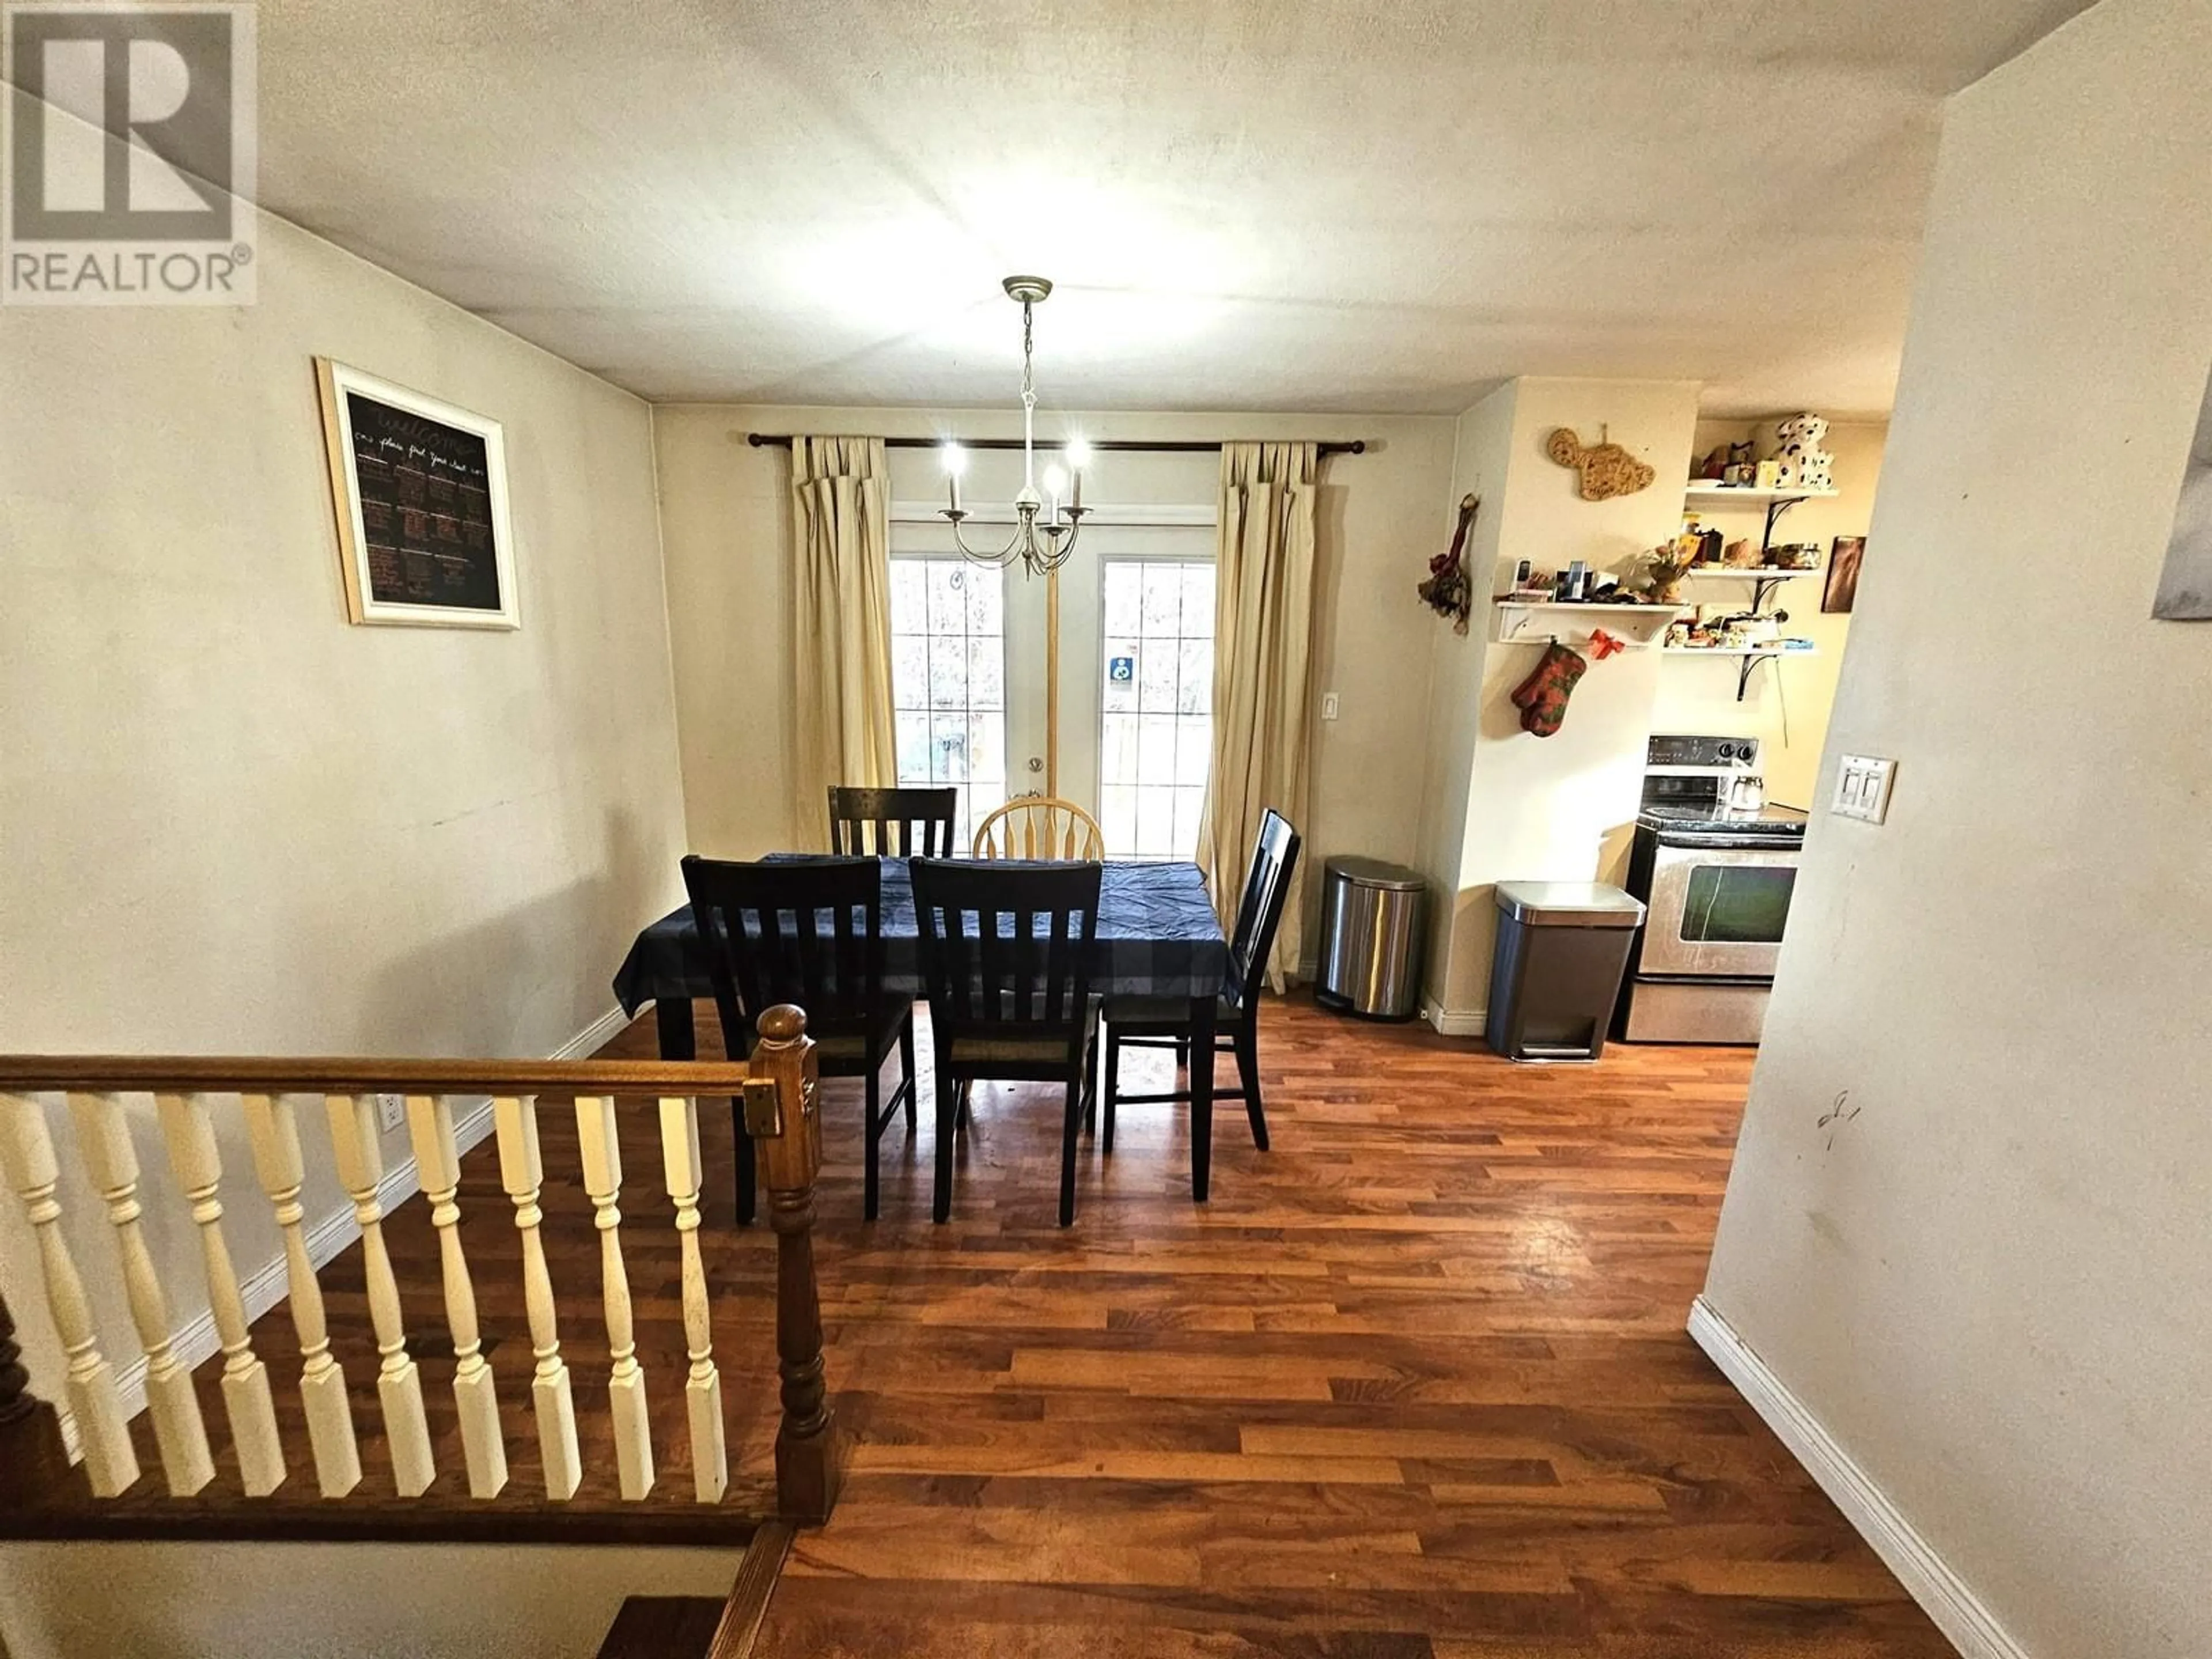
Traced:
<path fill-rule="evenodd" d="M 1628 858 L 1648 918 L 1617 1037 L 1759 1042 L 1803 845 L 1805 814 L 1765 801 L 1759 739 L 1650 739 Z"/>

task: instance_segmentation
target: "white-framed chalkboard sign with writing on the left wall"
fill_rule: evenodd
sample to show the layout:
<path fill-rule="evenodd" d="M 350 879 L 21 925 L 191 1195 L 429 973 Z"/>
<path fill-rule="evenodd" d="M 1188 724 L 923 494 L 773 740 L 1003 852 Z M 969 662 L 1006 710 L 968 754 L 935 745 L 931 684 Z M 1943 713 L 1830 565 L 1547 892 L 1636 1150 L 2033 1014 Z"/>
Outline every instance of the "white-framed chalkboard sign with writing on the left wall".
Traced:
<path fill-rule="evenodd" d="M 520 628 L 498 420 L 314 361 L 354 622 Z"/>

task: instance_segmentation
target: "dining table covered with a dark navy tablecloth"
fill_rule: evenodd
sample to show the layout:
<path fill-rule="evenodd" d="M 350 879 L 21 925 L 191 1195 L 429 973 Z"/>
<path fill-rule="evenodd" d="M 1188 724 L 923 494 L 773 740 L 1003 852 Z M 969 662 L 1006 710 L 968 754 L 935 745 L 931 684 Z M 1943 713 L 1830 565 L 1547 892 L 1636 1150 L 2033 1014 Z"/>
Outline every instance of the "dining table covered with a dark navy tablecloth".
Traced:
<path fill-rule="evenodd" d="M 810 858 L 816 854 L 776 854 Z M 885 989 L 922 995 L 920 922 L 905 858 L 883 858 Z M 1214 1006 L 1228 984 L 1230 947 L 1194 863 L 1108 858 L 1091 951 L 1099 995 L 1188 998 L 1190 1002 L 1190 1199 L 1206 1203 L 1212 1183 Z M 615 973 L 626 1015 L 653 1004 L 661 1060 L 697 1060 L 692 1002 L 714 995 L 699 920 L 681 905 L 646 927 Z"/>

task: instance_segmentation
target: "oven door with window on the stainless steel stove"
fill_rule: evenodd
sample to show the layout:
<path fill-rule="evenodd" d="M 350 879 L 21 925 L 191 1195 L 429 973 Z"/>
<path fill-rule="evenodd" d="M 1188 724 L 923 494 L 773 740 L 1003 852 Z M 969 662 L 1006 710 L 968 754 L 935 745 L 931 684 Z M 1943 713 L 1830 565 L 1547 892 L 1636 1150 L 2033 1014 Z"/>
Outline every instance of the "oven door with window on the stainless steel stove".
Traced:
<path fill-rule="evenodd" d="M 1796 867 L 1798 847 L 1663 836 L 1637 971 L 1772 980 Z"/>

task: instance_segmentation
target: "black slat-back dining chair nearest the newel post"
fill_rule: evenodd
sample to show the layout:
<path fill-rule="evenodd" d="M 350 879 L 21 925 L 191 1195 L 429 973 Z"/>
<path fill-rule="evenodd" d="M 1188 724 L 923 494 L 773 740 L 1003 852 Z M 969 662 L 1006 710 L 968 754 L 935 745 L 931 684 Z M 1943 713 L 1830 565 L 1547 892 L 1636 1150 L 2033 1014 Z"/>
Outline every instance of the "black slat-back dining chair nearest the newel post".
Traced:
<path fill-rule="evenodd" d="M 708 949 L 714 1009 L 730 1060 L 750 1060 L 754 1020 L 779 1002 L 805 1009 L 807 1035 L 825 1077 L 865 1082 L 867 1175 L 860 1206 L 876 1219 L 876 1144 L 907 1110 L 914 1135 L 914 998 L 883 987 L 883 865 L 874 858 L 779 858 L 763 865 L 684 860 L 684 887 Z M 891 1048 L 905 1071 L 887 1102 L 883 1062 Z M 737 1130 L 737 1219 L 752 1221 L 754 1159 L 743 1104 L 730 1102 Z"/>

